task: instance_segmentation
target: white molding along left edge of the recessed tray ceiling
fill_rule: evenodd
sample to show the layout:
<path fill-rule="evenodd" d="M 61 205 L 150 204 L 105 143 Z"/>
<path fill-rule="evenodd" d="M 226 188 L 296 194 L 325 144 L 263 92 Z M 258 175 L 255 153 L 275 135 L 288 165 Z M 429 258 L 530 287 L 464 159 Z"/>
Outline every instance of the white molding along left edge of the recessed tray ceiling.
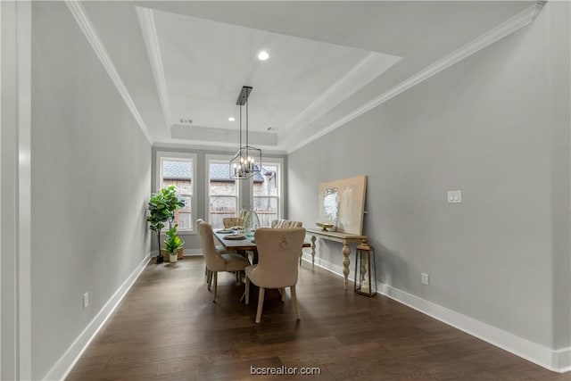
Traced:
<path fill-rule="evenodd" d="M 139 23 L 143 39 L 145 40 L 146 51 L 149 54 L 151 69 L 153 70 L 154 83 L 159 93 L 159 101 L 161 102 L 162 116 L 164 118 L 166 128 L 172 125 L 172 112 L 170 111 L 169 92 L 167 91 L 167 80 L 164 77 L 164 67 L 161 58 L 161 46 L 159 45 L 159 37 L 157 28 L 154 23 L 153 10 L 148 8 L 136 7 Z M 170 133 L 170 130 L 168 131 Z"/>

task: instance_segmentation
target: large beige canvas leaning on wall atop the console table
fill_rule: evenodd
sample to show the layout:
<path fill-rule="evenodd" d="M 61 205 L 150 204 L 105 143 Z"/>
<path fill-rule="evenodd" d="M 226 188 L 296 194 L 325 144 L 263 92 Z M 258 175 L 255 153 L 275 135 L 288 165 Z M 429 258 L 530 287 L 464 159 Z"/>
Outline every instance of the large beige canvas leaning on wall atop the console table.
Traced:
<path fill-rule="evenodd" d="M 361 235 L 367 176 L 319 184 L 319 222 L 334 225 L 341 233 Z"/>

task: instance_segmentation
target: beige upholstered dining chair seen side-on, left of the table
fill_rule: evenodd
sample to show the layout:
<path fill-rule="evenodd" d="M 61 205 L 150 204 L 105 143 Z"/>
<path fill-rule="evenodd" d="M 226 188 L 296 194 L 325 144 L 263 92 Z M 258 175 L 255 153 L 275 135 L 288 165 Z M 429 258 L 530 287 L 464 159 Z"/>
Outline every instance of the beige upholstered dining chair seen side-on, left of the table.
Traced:
<path fill-rule="evenodd" d="M 211 289 L 212 279 L 214 280 L 214 291 L 212 302 L 216 302 L 218 294 L 218 272 L 236 271 L 236 278 L 239 279 L 239 272 L 250 265 L 250 261 L 237 253 L 220 253 L 214 245 L 212 226 L 206 222 L 198 223 L 198 233 L 203 248 L 204 261 L 206 261 L 206 283 Z"/>

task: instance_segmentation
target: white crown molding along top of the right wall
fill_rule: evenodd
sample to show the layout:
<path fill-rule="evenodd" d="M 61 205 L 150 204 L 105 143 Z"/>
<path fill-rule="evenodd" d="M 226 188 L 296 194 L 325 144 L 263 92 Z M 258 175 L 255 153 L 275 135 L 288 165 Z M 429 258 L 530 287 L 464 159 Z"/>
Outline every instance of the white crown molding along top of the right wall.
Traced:
<path fill-rule="evenodd" d="M 402 92 L 410 89 L 410 87 L 415 87 L 419 83 L 424 82 L 426 79 L 433 77 L 439 72 L 448 69 L 453 64 L 460 62 L 467 58 L 468 56 L 479 52 L 486 46 L 492 45 L 494 42 L 500 40 L 503 37 L 509 36 L 511 33 L 518 29 L 521 29 L 534 21 L 537 14 L 541 11 L 543 4 L 545 2 L 538 2 L 533 6 L 525 9 L 525 11 L 518 13 L 514 17 L 510 18 L 508 21 L 502 22 L 497 27 L 490 29 L 488 32 L 476 39 L 470 41 L 467 45 L 460 47 L 451 54 L 446 55 L 442 59 L 434 62 L 432 65 L 427 66 L 425 69 L 418 71 L 418 73 L 403 80 L 399 85 L 390 88 L 385 91 L 385 93 L 378 95 L 376 98 L 370 100 L 368 103 L 361 105 L 359 108 L 353 110 L 352 112 L 344 115 L 339 120 L 335 120 L 333 123 L 328 125 L 326 128 L 319 130 L 316 134 L 303 140 L 297 145 L 292 146 L 292 148 L 287 149 L 287 153 L 293 153 L 298 149 L 302 148 L 304 145 L 310 144 L 312 141 L 327 135 L 329 132 L 335 130 L 348 123 L 349 121 L 359 117 L 365 112 L 374 109 L 380 104 L 384 104 L 389 99 L 394 96 L 401 94 Z"/>

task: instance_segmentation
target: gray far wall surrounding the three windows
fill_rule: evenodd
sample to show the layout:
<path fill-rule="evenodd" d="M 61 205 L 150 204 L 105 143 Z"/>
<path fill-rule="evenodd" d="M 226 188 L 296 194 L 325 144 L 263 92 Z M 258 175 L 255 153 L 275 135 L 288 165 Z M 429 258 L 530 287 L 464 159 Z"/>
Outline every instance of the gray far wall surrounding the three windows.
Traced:
<path fill-rule="evenodd" d="M 237 143 L 237 142 L 236 142 Z M 236 147 L 237 150 L 237 147 Z M 207 219 L 207 203 L 208 203 L 208 195 L 206 195 L 206 155 L 207 154 L 218 154 L 218 155 L 234 155 L 236 153 L 234 151 L 214 151 L 214 150 L 199 150 L 199 149 L 183 149 L 183 148 L 161 148 L 161 147 L 153 147 L 153 177 L 152 177 L 152 189 L 153 192 L 156 192 L 156 153 L 159 152 L 172 152 L 172 153 L 196 153 L 196 169 L 195 169 L 195 180 L 196 180 L 196 212 L 193 215 L 193 219 Z M 269 158 L 280 158 L 284 160 L 284 183 L 287 184 L 287 159 L 284 155 L 280 154 L 272 154 L 272 153 L 263 153 L 263 157 Z M 262 157 L 262 159 L 263 159 Z M 240 193 L 242 195 L 243 205 L 239 205 L 239 208 L 246 208 L 249 209 L 249 201 L 250 200 L 250 186 L 249 181 L 240 181 Z M 287 189 L 284 189 L 285 200 L 287 200 Z M 282 213 L 283 216 L 287 216 L 287 203 L 284 203 L 284 211 Z M 200 238 L 196 235 L 196 233 L 184 233 L 181 232 L 179 234 L 181 239 L 185 241 L 185 250 L 199 250 L 200 249 Z M 153 251 L 157 250 L 157 243 L 156 237 L 153 236 L 151 241 Z"/>

